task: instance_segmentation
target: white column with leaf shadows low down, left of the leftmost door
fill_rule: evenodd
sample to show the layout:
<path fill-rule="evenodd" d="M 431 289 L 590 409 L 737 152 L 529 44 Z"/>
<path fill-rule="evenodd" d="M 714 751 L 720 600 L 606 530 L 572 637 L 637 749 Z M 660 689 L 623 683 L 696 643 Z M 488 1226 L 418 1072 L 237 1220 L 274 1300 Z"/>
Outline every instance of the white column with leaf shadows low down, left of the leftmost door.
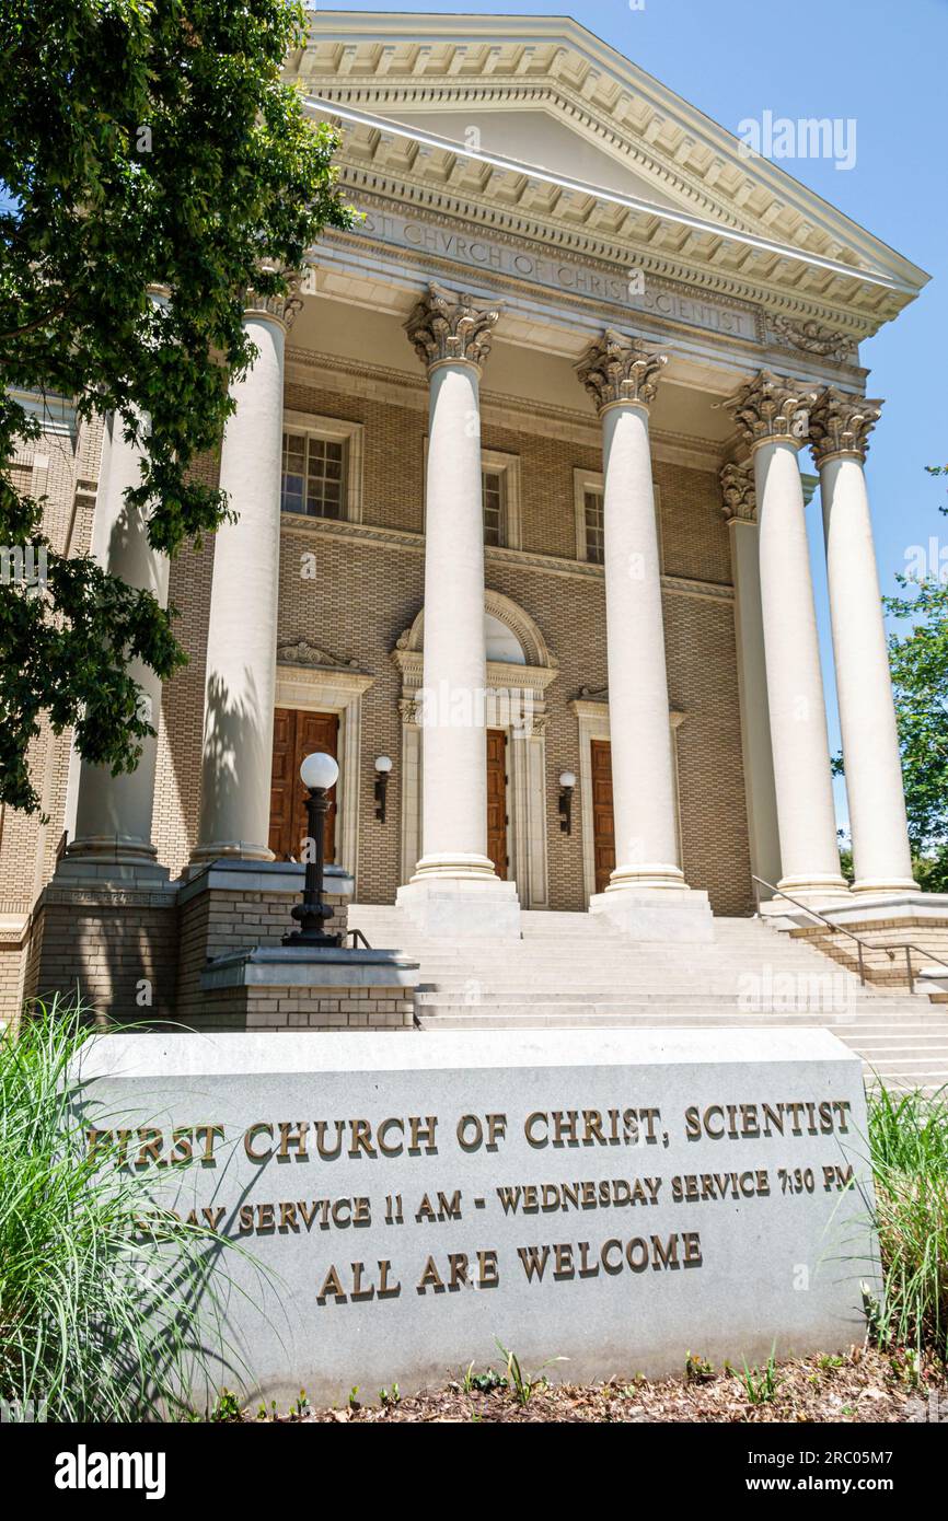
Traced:
<path fill-rule="evenodd" d="M 294 287 L 250 301 L 243 316 L 259 357 L 233 386 L 237 409 L 221 449 L 221 488 L 236 517 L 215 535 L 196 864 L 272 861 L 283 348 L 300 304 Z"/>

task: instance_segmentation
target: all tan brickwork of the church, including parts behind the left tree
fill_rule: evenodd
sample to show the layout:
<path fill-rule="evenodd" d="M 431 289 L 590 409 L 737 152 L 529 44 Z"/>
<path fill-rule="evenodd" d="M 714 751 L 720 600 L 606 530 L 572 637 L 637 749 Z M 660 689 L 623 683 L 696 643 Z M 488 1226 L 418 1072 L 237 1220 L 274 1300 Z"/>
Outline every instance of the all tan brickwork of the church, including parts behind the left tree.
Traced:
<path fill-rule="evenodd" d="M 297 365 L 294 376 L 298 373 Z M 298 379 L 286 385 L 288 409 L 362 424 L 362 523 L 283 519 L 278 640 L 306 639 L 327 651 L 339 668 L 373 678 L 361 704 L 358 858 L 345 864 L 355 868 L 361 900 L 391 902 L 402 881 L 402 675 L 393 651 L 423 605 L 426 388 L 418 376 L 405 386 L 405 403 L 399 405 L 385 388 L 373 391 L 371 376 L 348 391 L 345 382 L 347 376 L 339 374 L 333 376 L 332 388 Z M 574 505 L 574 470 L 600 470 L 601 453 L 595 435 L 587 441 L 578 432 L 568 437 L 569 430 L 557 437 L 549 424 L 531 427 L 525 412 L 511 417 L 510 426 L 498 426 L 490 418 L 504 411 L 501 403 L 485 386 L 482 447 L 519 461 L 522 554 L 488 549 L 485 580 L 490 590 L 510 598 L 534 621 L 558 668 L 546 691 L 548 900 L 554 910 L 578 911 L 586 907 L 581 830 L 574 827 L 572 835 L 565 835 L 558 827 L 557 777 L 565 768 L 580 771 L 571 701 L 584 691 L 603 692 L 607 684 L 603 573 L 577 558 Z M 49 449 L 46 490 L 53 540 L 79 551 L 90 540 L 100 430 L 84 429 L 75 452 L 70 443 L 58 435 Z M 218 459 L 204 459 L 199 470 L 215 481 Z M 654 476 L 660 493 L 670 698 L 685 713 L 677 732 L 683 868 L 692 887 L 709 891 L 715 913 L 741 914 L 749 911 L 752 894 L 730 558 L 720 488 L 712 468 L 691 468 L 663 458 L 656 459 Z M 172 879 L 187 865 L 198 830 L 213 549 L 212 538 L 184 551 L 170 575 L 169 598 L 180 614 L 177 630 L 189 665 L 163 692 L 152 838 Z M 688 586 L 676 584 L 680 581 Z M 380 753 L 393 756 L 396 764 L 385 824 L 374 818 L 373 799 L 373 760 Z M 68 760 L 70 736 L 44 730 L 35 744 L 35 771 L 43 779 L 49 821 L 9 811 L 2 821 L 2 899 L 11 913 L 29 914 L 55 868 L 67 824 Z M 266 940 L 271 919 L 282 926 L 286 910 L 288 903 L 263 910 L 248 902 L 240 907 L 239 923 Z M 166 992 L 173 986 L 173 973 L 166 969 L 170 963 L 161 951 L 166 931 L 155 929 L 154 937 L 146 937 L 154 940 L 149 955 L 137 949 L 143 934 L 140 914 L 149 911 L 164 913 L 148 905 L 111 905 L 105 914 L 111 951 L 102 955 L 90 951 L 90 966 L 96 969 L 96 989 L 114 983 L 122 989 L 123 1005 L 142 978 L 154 975 L 161 984 L 160 1007 L 166 1008 Z M 49 900 L 33 917 L 33 932 L 41 929 L 47 946 L 58 943 L 68 935 L 70 913 L 64 903 Z M 81 938 L 96 938 L 94 925 L 94 916 L 87 922 L 79 908 L 72 929 Z M 187 926 L 181 928 L 187 937 Z M 157 963 L 151 960 L 155 955 Z M 49 967 L 55 963 L 55 957 L 49 961 L 49 951 L 44 963 Z M 180 1011 L 195 1007 L 187 966 L 184 949 L 177 990 Z M 41 990 L 38 958 L 33 957 L 27 975 L 23 946 L 15 938 L 5 938 L 0 967 L 8 1011 L 17 1005 L 21 989 Z M 50 987 L 56 984 L 52 973 L 47 981 Z"/>

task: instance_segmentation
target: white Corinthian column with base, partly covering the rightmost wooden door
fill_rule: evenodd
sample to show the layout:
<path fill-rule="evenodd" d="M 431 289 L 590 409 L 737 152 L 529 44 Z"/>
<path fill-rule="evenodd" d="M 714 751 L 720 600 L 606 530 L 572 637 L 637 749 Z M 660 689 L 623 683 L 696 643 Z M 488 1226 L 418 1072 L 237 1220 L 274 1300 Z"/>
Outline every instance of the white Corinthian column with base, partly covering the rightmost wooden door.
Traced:
<path fill-rule="evenodd" d="M 648 408 L 665 356 L 607 330 L 577 374 L 603 420 L 606 649 L 616 865 L 590 902 L 642 938 L 709 938 L 679 865 Z"/>

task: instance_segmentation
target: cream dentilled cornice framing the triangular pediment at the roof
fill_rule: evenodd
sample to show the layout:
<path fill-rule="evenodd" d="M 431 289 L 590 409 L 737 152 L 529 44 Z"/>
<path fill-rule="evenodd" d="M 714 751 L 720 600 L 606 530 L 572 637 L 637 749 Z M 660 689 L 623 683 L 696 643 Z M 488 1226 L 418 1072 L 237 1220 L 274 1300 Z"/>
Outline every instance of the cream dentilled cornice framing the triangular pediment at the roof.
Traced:
<path fill-rule="evenodd" d="M 379 175 L 423 201 L 457 195 L 469 213 L 516 213 L 536 236 L 613 240 L 665 262 L 689 283 L 736 281 L 747 300 L 822 319 L 851 313 L 873 332 L 913 300 L 927 275 L 778 164 L 744 158 L 738 140 L 565 17 L 315 14 L 310 44 L 288 73 L 339 113 L 344 178 Z M 460 141 L 425 141 L 388 113 L 543 110 L 593 141 L 671 207 L 557 186 L 531 164 L 490 161 Z M 353 113 L 380 117 L 374 129 Z M 533 170 L 533 172 L 531 172 Z M 689 225 L 692 218 L 695 225 Z M 606 254 L 606 257 L 609 257 Z M 720 289 L 720 286 L 718 286 Z M 733 294 L 738 294 L 736 289 Z M 768 298 L 799 295 L 799 307 Z M 838 327 L 838 321 L 835 324 Z M 863 335 L 864 336 L 864 335 Z"/>

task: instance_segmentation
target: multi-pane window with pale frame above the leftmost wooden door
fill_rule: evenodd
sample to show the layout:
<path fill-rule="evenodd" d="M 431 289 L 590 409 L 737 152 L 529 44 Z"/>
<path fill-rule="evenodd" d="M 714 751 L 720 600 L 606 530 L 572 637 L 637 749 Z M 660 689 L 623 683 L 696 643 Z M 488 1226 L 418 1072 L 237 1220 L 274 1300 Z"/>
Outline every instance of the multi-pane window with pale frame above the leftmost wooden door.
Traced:
<path fill-rule="evenodd" d="M 294 412 L 283 423 L 283 511 L 358 522 L 362 424 Z"/>

